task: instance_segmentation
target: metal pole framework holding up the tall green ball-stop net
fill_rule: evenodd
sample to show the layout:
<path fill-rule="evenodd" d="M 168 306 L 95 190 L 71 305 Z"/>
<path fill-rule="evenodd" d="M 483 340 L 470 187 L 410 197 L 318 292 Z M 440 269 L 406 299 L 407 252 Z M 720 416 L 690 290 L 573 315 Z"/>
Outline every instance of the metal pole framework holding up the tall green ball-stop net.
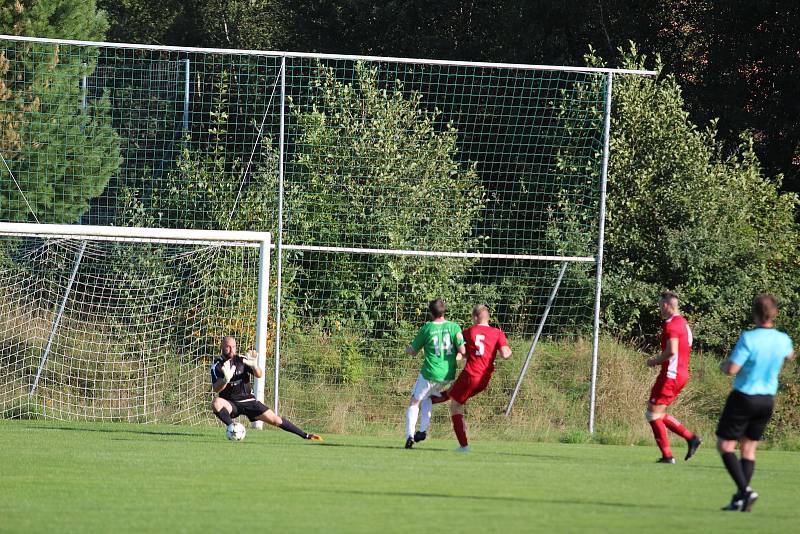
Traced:
<path fill-rule="evenodd" d="M 70 39 L 52 39 L 52 38 L 38 38 L 38 37 L 25 37 L 25 36 L 12 36 L 12 35 L 0 35 L 0 41 L 10 41 L 10 42 L 23 42 L 23 43 L 48 43 L 52 45 L 66 45 L 66 46 L 75 46 L 75 47 L 102 47 L 102 48 L 112 48 L 112 49 L 126 49 L 126 50 L 134 50 L 134 51 L 164 51 L 170 53 L 184 53 L 184 54 L 192 54 L 192 53 L 200 53 L 200 54 L 223 54 L 223 55 L 232 55 L 232 56 L 241 56 L 241 57 L 258 57 L 258 58 L 272 58 L 272 59 L 279 59 L 280 60 L 280 69 L 277 71 L 275 75 L 274 84 L 272 84 L 271 91 L 272 95 L 270 96 L 269 103 L 267 104 L 267 108 L 270 106 L 278 106 L 279 110 L 279 132 L 278 132 L 278 150 L 277 150 L 277 185 L 278 185 L 278 195 L 277 195 L 277 224 L 273 227 L 274 234 L 275 234 L 275 241 L 267 241 L 267 245 L 265 249 L 262 251 L 262 261 L 264 257 L 269 257 L 269 249 L 274 247 L 275 248 L 275 256 L 276 256 L 276 270 L 275 270 L 275 277 L 276 277 L 276 291 L 275 291 L 275 310 L 276 312 L 274 315 L 274 343 L 272 344 L 273 347 L 273 363 L 275 368 L 275 377 L 274 377 L 274 402 L 273 402 L 273 410 L 276 414 L 279 414 L 279 395 L 278 395 L 278 381 L 279 381 L 279 370 L 281 367 L 281 336 L 282 336 L 282 310 L 283 310 L 283 302 L 282 302 L 282 291 L 283 291 L 283 273 L 282 273 L 282 266 L 284 264 L 284 251 L 313 251 L 313 252 L 331 252 L 331 253 L 354 253 L 354 254 L 375 254 L 375 255 L 397 255 L 397 256 L 430 256 L 430 257 L 463 257 L 463 258 L 498 258 L 498 259 L 515 259 L 515 260 L 530 260 L 530 261 L 548 261 L 548 262 L 558 262 L 559 266 L 559 275 L 555 280 L 554 284 L 551 286 L 550 297 L 547 300 L 547 303 L 544 308 L 543 316 L 539 321 L 538 328 L 534 335 L 533 341 L 530 345 L 530 350 L 528 351 L 527 358 L 524 362 L 524 366 L 522 371 L 517 379 L 516 386 L 514 387 L 514 391 L 511 395 L 510 401 L 506 407 L 505 413 L 508 415 L 513 407 L 513 403 L 517 397 L 517 394 L 520 391 L 520 387 L 523 383 L 523 379 L 525 377 L 525 373 L 528 370 L 529 364 L 533 358 L 537 342 L 540 338 L 540 335 L 543 332 L 545 321 L 548 318 L 548 314 L 554 308 L 554 300 L 556 298 L 557 292 L 560 288 L 561 279 L 564 277 L 564 272 L 567 268 L 567 263 L 583 263 L 589 264 L 592 263 L 595 265 L 594 275 L 595 275 L 595 284 L 594 284 L 594 306 L 593 306 L 593 317 L 592 317 L 592 352 L 591 352 L 591 372 L 590 372 L 590 393 L 589 393 L 589 407 L 588 407 L 588 430 L 589 433 L 592 434 L 594 432 L 595 426 L 595 412 L 596 412 L 596 404 L 597 404 L 597 369 L 598 369 L 598 351 L 599 351 L 599 332 L 600 332 L 600 299 L 602 296 L 602 276 L 603 276 L 603 254 L 604 254 L 604 232 L 605 232 L 605 210 L 606 210 L 606 194 L 607 194 L 607 179 L 608 179 L 608 164 L 609 164 L 609 157 L 610 157 L 610 122 L 611 122 L 611 102 L 612 102 L 612 87 L 613 87 L 613 78 L 614 76 L 620 75 L 635 75 L 635 76 L 655 76 L 657 73 L 656 71 L 652 70 L 642 70 L 642 69 L 615 69 L 615 68 L 593 68 L 593 67 L 578 67 L 578 66 L 554 66 L 554 65 L 536 65 L 536 64 L 513 64 L 513 63 L 491 63 L 491 62 L 471 62 L 471 61 L 454 61 L 454 60 L 435 60 L 435 59 L 420 59 L 420 58 L 399 58 L 399 57 L 380 57 L 380 56 L 366 56 L 366 55 L 341 55 L 341 54 L 319 54 L 319 53 L 302 53 L 302 52 L 292 52 L 292 51 L 270 51 L 270 50 L 241 50 L 241 49 L 228 49 L 228 48 L 198 48 L 198 47 L 175 47 L 175 46 L 162 46 L 162 45 L 149 45 L 149 44 L 131 44 L 131 43 L 109 43 L 109 42 L 102 42 L 102 41 L 84 41 L 84 40 L 70 40 Z M 482 253 L 468 253 L 468 252 L 453 252 L 453 251 L 434 251 L 434 250 L 394 250 L 394 249 L 381 249 L 381 248 L 349 248 L 349 247 L 339 247 L 339 246 L 316 246 L 316 245 L 305 245 L 303 243 L 293 243 L 291 236 L 288 239 L 284 236 L 284 219 L 287 216 L 284 213 L 284 180 L 286 179 L 286 170 L 285 170 L 285 158 L 287 157 L 287 141 L 291 141 L 290 138 L 287 138 L 287 114 L 290 114 L 290 111 L 287 110 L 287 102 L 289 99 L 289 93 L 287 93 L 287 58 L 288 59 L 303 59 L 309 61 L 362 61 L 367 63 L 391 63 L 391 64 L 412 64 L 412 65 L 421 65 L 421 66 L 428 66 L 428 67 L 470 67 L 470 68 L 481 68 L 481 69 L 498 69 L 498 70 L 519 70 L 519 71 L 558 71 L 558 72 L 572 72 L 572 73 L 594 73 L 600 76 L 605 77 L 605 109 L 604 114 L 602 117 L 602 132 L 601 132 L 601 139 L 600 143 L 602 144 L 602 152 L 600 155 L 601 161 L 599 162 L 599 191 L 597 192 L 598 197 L 596 198 L 598 203 L 598 210 L 596 214 L 596 223 L 597 223 L 597 235 L 592 236 L 595 239 L 596 247 L 592 247 L 592 253 L 588 256 L 539 256 L 539 255 L 524 255 L 524 254 L 482 254 Z M 183 72 L 183 83 L 184 83 L 184 91 L 183 91 L 183 130 L 186 131 L 188 129 L 188 116 L 189 116 L 189 105 L 190 105 L 190 59 L 179 59 L 180 69 Z M 272 68 L 272 67 L 271 67 Z M 291 66 L 289 67 L 291 68 Z M 177 71 L 176 71 L 177 72 Z M 176 74 L 175 80 L 180 81 L 180 75 Z M 78 80 L 76 80 L 78 83 Z M 81 81 L 83 91 L 84 91 L 84 99 L 86 98 L 85 91 L 86 91 L 86 78 Z M 290 84 L 290 91 L 293 86 Z M 270 89 L 269 84 L 266 86 L 266 89 Z M 273 104 L 273 97 L 277 104 Z M 599 101 L 598 101 L 599 104 Z M 85 104 L 84 104 L 85 105 Z M 598 108 L 599 111 L 599 108 Z M 256 144 L 258 143 L 258 139 L 262 135 L 262 127 L 264 125 L 264 119 L 267 117 L 267 111 L 265 111 L 264 117 L 261 121 L 261 126 L 258 128 L 258 137 L 256 139 Z M 274 138 L 272 139 L 274 141 Z M 243 176 L 247 175 L 247 172 L 250 170 L 250 165 L 253 161 L 253 154 L 255 153 L 255 145 L 253 147 L 253 152 L 250 154 L 250 159 L 247 161 L 246 170 Z M 2 155 L 0 155 L 0 159 Z M 4 164 L 5 160 L 0 162 L 0 164 Z M 7 170 L 11 172 L 10 167 L 6 164 Z M 291 174 L 291 173 L 290 173 Z M 13 177 L 13 175 L 12 175 Z M 240 191 L 241 193 L 241 185 Z M 237 202 L 239 198 L 237 197 Z M 35 214 L 34 214 L 35 217 Z M 181 224 L 181 223 L 173 223 L 173 224 Z M 40 227 L 43 225 L 30 225 L 32 228 L 30 231 L 33 234 L 29 235 L 41 235 L 42 231 Z M 57 225 L 56 225 L 57 226 Z M 2 230 L 3 224 L 0 223 L 0 230 Z M 74 235 L 75 226 L 64 226 L 64 228 L 69 229 L 69 235 Z M 83 228 L 89 228 L 84 226 Z M 122 229 L 116 228 L 116 230 L 121 231 L 121 233 L 114 234 L 116 238 L 122 238 L 123 234 L 128 230 L 135 230 L 135 229 Z M 144 230 L 144 229 L 140 229 Z M 186 240 L 186 237 L 189 235 L 189 232 L 201 232 L 201 234 L 197 234 L 198 239 L 203 241 L 208 241 L 208 236 L 217 232 L 214 231 L 186 231 L 186 230 L 159 230 L 159 229 L 146 229 L 147 231 L 147 238 L 148 239 L 170 239 L 169 237 L 164 238 L 155 238 L 153 236 L 156 235 L 166 235 L 162 234 L 161 232 L 179 232 L 180 239 L 182 241 Z M 2 233 L 2 232 L 0 232 Z M 256 234 L 257 232 L 218 232 L 219 235 L 224 234 Z M 225 240 L 226 238 L 221 238 Z M 79 261 L 79 260 L 78 260 Z M 262 266 L 263 268 L 263 266 Z M 267 267 L 268 269 L 268 267 Z M 259 275 L 261 276 L 261 274 Z M 268 279 L 267 279 L 268 280 Z M 268 283 L 268 282 L 267 282 Z M 549 282 L 548 282 L 549 284 Z M 259 302 L 259 317 L 264 311 L 265 319 L 266 320 L 266 301 L 262 302 L 262 291 L 266 293 L 266 287 L 261 285 L 259 282 L 259 293 L 258 293 L 258 302 Z M 266 299 L 266 297 L 265 297 Z M 266 323 L 265 323 L 266 324 Z M 265 338 L 266 333 L 261 332 L 261 330 L 265 330 L 264 325 L 258 326 L 258 339 L 259 343 L 257 344 L 257 349 L 259 350 L 259 357 L 263 357 L 263 347 L 266 345 L 261 342 L 262 338 Z M 259 348 L 261 347 L 261 348 Z M 260 360 L 261 361 L 261 360 Z M 263 382 L 261 387 L 263 388 Z"/>

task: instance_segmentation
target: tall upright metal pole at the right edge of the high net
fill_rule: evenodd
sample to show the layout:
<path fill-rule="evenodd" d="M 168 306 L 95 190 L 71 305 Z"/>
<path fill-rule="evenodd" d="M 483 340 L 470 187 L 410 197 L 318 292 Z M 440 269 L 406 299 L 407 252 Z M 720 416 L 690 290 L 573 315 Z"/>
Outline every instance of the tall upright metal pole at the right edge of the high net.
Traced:
<path fill-rule="evenodd" d="M 589 434 L 594 433 L 594 412 L 597 401 L 597 349 L 600 342 L 600 295 L 603 284 L 603 243 L 606 230 L 606 185 L 608 183 L 608 157 L 611 134 L 611 89 L 614 75 L 608 73 L 606 88 L 606 116 L 603 124 L 603 167 L 600 172 L 600 222 L 597 236 L 597 283 L 594 294 L 594 328 L 592 331 L 592 378 L 589 396 Z"/>

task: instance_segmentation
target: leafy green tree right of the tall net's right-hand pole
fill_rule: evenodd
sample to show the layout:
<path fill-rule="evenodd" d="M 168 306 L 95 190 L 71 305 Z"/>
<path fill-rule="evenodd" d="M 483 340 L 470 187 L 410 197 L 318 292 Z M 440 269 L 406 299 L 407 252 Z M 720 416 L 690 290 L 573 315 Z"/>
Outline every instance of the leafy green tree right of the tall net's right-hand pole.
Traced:
<path fill-rule="evenodd" d="M 632 47 L 626 68 L 644 68 Z M 600 65 L 589 57 L 591 65 Z M 663 66 L 657 60 L 656 69 Z M 747 323 L 753 296 L 790 304 L 800 272 L 797 197 L 762 173 L 745 133 L 726 154 L 715 122 L 690 120 L 674 76 L 614 84 L 606 215 L 604 314 L 616 333 L 652 335 L 655 299 L 676 290 L 698 340 L 724 350 Z"/>

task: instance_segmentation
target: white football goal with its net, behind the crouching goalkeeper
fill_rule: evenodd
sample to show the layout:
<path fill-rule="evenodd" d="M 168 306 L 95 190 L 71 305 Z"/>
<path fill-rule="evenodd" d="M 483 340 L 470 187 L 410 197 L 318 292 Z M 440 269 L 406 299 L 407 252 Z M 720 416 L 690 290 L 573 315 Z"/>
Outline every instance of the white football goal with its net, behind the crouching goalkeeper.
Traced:
<path fill-rule="evenodd" d="M 221 335 L 266 369 L 269 232 L 0 223 L 0 241 L 6 414 L 208 418 Z"/>

